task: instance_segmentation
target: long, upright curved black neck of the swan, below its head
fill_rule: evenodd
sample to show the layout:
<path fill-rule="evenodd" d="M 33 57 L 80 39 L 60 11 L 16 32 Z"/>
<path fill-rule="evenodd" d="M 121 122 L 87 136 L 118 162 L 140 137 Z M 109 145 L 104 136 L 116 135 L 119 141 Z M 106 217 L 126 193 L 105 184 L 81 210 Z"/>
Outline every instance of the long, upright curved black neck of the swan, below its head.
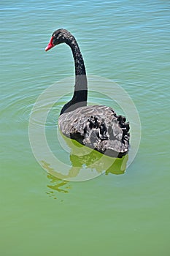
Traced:
<path fill-rule="evenodd" d="M 86 78 L 85 64 L 82 59 L 82 53 L 80 52 L 76 39 L 71 34 L 70 37 L 66 39 L 66 44 L 72 49 L 74 58 L 75 86 L 72 99 L 63 106 L 60 114 L 86 106 L 88 99 L 88 82 Z"/>

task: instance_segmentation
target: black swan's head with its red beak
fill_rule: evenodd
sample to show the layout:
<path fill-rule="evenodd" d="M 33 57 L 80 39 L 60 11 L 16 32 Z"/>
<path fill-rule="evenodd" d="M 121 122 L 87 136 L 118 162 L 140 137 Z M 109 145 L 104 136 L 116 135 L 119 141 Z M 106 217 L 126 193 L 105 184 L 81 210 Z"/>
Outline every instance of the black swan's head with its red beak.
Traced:
<path fill-rule="evenodd" d="M 49 44 L 45 48 L 45 50 L 50 50 L 53 48 L 55 45 L 59 45 L 62 42 L 67 42 L 69 37 L 72 37 L 72 35 L 67 31 L 66 29 L 58 29 L 53 32 L 52 37 L 50 39 Z"/>

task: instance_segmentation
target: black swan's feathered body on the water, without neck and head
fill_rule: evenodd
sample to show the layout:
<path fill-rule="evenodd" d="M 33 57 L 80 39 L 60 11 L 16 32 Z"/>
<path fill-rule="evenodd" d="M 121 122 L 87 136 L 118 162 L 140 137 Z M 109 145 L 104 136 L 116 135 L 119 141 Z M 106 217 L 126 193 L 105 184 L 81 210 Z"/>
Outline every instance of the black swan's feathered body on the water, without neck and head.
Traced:
<path fill-rule="evenodd" d="M 128 153 L 129 124 L 112 108 L 103 105 L 85 106 L 63 113 L 58 119 L 63 135 L 75 139 L 111 157 Z"/>

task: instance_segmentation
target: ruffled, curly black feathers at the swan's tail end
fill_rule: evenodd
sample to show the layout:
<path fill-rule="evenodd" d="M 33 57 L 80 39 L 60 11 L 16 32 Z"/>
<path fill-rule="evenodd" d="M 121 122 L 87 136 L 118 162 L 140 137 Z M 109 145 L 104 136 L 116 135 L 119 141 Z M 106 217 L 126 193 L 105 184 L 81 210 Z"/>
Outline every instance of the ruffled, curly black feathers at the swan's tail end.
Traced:
<path fill-rule="evenodd" d="M 129 129 L 123 116 L 115 115 L 109 124 L 104 118 L 91 116 L 85 125 L 82 143 L 110 157 L 123 157 L 128 153 Z"/>

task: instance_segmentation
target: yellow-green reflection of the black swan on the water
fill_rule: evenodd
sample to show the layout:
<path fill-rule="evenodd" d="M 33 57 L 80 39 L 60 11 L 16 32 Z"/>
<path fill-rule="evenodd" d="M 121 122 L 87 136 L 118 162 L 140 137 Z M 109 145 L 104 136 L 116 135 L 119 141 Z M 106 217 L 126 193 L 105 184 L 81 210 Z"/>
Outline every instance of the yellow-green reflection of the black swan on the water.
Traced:
<path fill-rule="evenodd" d="M 51 184 L 47 185 L 48 188 L 57 192 L 68 193 L 70 187 L 67 184 L 69 181 L 85 181 L 90 178 L 95 178 L 101 173 L 105 173 L 106 175 L 109 173 L 116 175 L 125 173 L 128 155 L 125 155 L 122 158 L 107 157 L 100 154 L 98 151 L 80 145 L 80 143 L 77 143 L 75 140 L 70 140 L 68 138 L 64 138 L 64 140 L 69 148 L 71 148 L 71 153 L 69 155 L 71 165 L 69 166 L 67 174 L 63 174 L 64 172 L 58 172 L 60 171 L 58 166 L 52 167 L 50 163 L 42 160 L 42 167 L 49 173 L 47 178 L 50 178 Z M 81 172 L 83 173 L 84 179 L 80 176 Z M 94 172 L 96 172 L 97 175 L 90 176 L 89 173 Z M 77 178 L 79 176 L 80 179 Z M 53 190 L 47 192 L 47 194 L 54 196 Z"/>

